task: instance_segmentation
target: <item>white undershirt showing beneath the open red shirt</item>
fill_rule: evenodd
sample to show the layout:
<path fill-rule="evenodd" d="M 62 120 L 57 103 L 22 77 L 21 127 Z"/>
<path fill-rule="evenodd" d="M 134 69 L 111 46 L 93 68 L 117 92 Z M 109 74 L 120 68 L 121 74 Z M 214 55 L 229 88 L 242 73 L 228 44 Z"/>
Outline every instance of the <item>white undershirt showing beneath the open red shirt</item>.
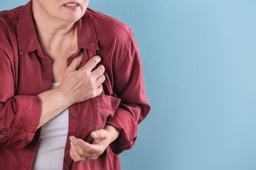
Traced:
<path fill-rule="evenodd" d="M 58 87 L 59 84 L 60 82 L 54 82 L 53 88 Z M 67 135 L 68 109 L 41 127 L 39 146 L 32 169 L 62 169 Z"/>

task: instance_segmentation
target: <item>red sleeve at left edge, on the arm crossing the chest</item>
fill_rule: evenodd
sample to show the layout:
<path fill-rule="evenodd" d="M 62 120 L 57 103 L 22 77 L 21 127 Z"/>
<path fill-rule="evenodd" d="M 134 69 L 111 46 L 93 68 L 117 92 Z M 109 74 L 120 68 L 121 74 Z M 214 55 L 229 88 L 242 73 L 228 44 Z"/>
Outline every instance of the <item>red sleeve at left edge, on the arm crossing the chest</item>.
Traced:
<path fill-rule="evenodd" d="M 24 148 L 33 139 L 42 106 L 36 95 L 15 95 L 13 60 L 0 50 L 0 144 Z"/>

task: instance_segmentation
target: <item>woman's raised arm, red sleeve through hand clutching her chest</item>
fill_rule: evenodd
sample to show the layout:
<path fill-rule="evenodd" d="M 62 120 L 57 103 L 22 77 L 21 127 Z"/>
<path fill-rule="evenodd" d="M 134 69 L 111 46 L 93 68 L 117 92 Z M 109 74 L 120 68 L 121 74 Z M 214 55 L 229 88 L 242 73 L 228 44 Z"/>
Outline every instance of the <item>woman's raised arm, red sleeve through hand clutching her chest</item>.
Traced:
<path fill-rule="evenodd" d="M 104 67 L 99 56 L 77 70 L 81 56 L 66 69 L 60 86 L 39 95 L 15 95 L 15 69 L 11 58 L 0 50 L 0 144 L 23 148 L 33 140 L 37 128 L 70 105 L 91 99 L 102 92 Z"/>

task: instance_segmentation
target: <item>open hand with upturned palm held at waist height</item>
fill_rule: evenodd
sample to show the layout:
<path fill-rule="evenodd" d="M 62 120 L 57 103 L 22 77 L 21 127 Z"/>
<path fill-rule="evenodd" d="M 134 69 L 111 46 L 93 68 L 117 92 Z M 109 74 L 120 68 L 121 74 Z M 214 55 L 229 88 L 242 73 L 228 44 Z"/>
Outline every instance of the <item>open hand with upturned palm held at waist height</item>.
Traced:
<path fill-rule="evenodd" d="M 93 131 L 93 143 L 89 144 L 82 139 L 70 137 L 70 157 L 74 161 L 91 161 L 96 160 L 110 143 L 115 141 L 119 133 L 112 126 L 106 126 L 104 129 Z"/>

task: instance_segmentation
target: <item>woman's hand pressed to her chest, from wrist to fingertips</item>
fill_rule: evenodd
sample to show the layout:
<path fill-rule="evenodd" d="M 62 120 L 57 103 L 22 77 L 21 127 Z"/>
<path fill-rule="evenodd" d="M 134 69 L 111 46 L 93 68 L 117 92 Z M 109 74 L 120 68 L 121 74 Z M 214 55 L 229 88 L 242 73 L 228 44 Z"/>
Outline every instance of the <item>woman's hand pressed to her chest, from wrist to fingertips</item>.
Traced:
<path fill-rule="evenodd" d="M 105 68 L 103 65 L 96 67 L 101 60 L 100 56 L 94 56 L 81 69 L 77 69 L 82 58 L 82 53 L 74 58 L 58 86 L 70 105 L 92 99 L 103 91 Z"/>

